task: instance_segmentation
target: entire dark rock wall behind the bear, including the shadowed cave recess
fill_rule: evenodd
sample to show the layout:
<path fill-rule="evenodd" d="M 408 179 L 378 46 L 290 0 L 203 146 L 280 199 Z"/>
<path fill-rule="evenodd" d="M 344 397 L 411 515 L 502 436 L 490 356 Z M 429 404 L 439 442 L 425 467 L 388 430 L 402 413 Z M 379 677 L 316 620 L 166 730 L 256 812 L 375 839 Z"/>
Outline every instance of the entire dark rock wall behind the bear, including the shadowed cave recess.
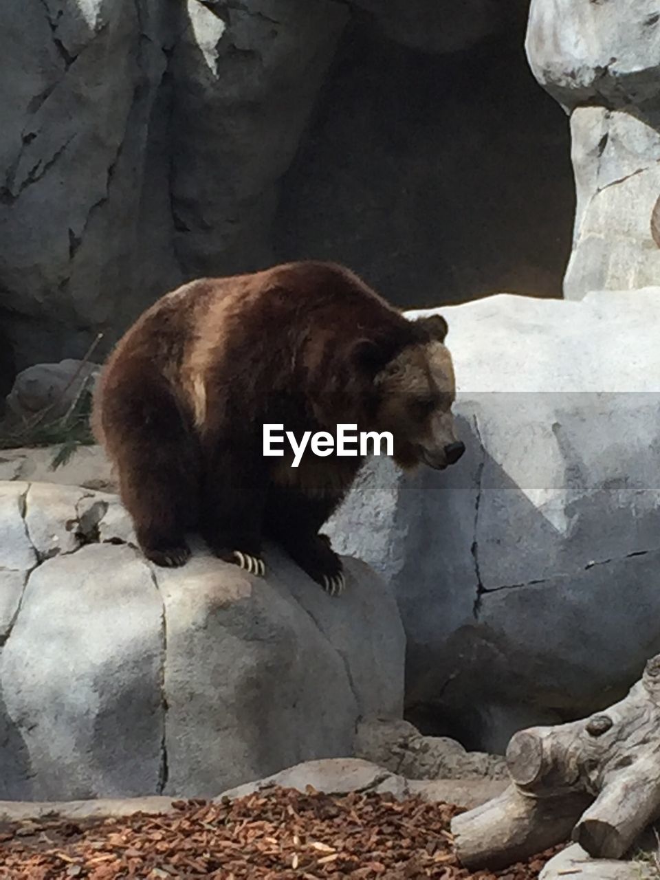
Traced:
<path fill-rule="evenodd" d="M 558 296 L 568 129 L 526 6 L 0 4 L 4 361 L 99 331 L 102 356 L 181 281 L 275 260 L 338 260 L 409 306 Z"/>

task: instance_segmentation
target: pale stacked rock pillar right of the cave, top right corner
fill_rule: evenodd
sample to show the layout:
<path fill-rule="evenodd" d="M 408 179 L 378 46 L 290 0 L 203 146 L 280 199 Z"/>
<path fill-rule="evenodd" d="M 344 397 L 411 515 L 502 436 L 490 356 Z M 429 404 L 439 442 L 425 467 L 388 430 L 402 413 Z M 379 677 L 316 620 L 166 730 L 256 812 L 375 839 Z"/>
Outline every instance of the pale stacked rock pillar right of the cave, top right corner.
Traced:
<path fill-rule="evenodd" d="M 660 11 L 653 0 L 532 0 L 527 55 L 570 114 L 577 209 L 564 295 L 655 284 Z"/>

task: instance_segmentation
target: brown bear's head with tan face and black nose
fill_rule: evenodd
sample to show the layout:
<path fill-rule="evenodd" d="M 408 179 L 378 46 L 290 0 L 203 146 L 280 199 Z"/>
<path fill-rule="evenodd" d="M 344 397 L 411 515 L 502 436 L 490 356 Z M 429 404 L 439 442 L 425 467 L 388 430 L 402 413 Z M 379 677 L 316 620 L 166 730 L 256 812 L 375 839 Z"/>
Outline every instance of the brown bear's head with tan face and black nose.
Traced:
<path fill-rule="evenodd" d="M 451 413 L 456 381 L 444 345 L 447 323 L 440 315 L 431 315 L 413 325 L 414 341 L 374 376 L 378 392 L 374 423 L 378 431 L 392 433 L 393 458 L 399 466 L 423 463 L 444 470 L 466 449 Z"/>

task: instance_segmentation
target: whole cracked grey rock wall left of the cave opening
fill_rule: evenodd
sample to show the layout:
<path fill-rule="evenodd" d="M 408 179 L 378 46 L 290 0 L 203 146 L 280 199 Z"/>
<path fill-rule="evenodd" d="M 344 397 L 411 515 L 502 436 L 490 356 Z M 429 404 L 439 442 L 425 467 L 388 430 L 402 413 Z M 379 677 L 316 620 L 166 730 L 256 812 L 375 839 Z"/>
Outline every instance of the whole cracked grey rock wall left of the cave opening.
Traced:
<path fill-rule="evenodd" d="M 17 370 L 111 345 L 184 277 L 272 261 L 275 187 L 347 19 L 333 0 L 0 5 Z"/>

